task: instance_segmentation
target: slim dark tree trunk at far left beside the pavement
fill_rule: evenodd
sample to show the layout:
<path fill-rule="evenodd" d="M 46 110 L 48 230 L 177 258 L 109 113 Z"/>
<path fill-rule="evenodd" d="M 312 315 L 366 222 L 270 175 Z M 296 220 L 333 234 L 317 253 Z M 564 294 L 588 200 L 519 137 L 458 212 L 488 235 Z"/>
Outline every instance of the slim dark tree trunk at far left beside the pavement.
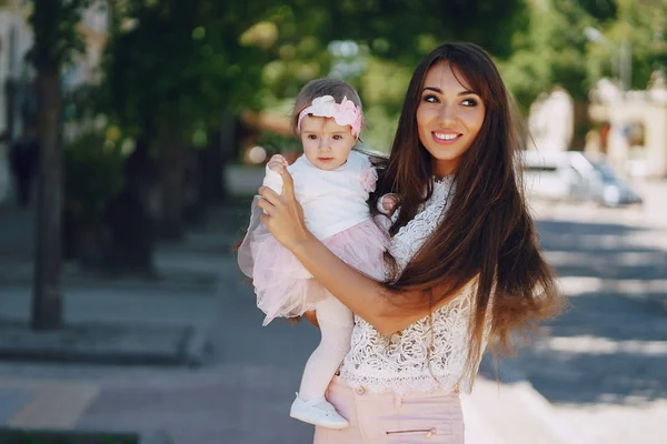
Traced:
<path fill-rule="evenodd" d="M 62 140 L 60 74 L 57 69 L 37 74 L 39 98 L 39 176 L 36 212 L 32 327 L 62 326 L 60 289 L 62 230 Z"/>

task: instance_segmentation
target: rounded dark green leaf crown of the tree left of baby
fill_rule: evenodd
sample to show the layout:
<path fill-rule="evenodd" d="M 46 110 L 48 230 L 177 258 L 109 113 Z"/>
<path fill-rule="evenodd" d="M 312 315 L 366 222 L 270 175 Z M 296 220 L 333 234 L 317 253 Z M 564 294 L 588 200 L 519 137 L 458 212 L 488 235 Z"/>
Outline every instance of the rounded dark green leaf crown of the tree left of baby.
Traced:
<path fill-rule="evenodd" d="M 119 4 L 116 21 L 137 26 L 113 33 L 107 50 L 104 90 L 116 119 L 133 133 L 179 125 L 189 138 L 216 127 L 223 111 L 251 105 L 277 31 L 261 20 L 252 27 L 262 13 L 242 7 L 216 0 Z"/>

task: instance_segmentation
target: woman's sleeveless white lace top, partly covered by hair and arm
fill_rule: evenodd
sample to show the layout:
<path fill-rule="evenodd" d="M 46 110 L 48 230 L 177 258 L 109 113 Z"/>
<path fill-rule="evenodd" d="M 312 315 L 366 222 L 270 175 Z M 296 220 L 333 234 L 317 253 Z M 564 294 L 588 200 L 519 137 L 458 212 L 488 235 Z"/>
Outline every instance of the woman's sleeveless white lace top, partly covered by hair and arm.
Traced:
<path fill-rule="evenodd" d="M 432 196 L 391 239 L 389 252 L 400 270 L 444 218 L 450 190 L 449 178 L 435 182 Z M 469 393 L 472 382 L 464 380 L 464 374 L 474 294 L 472 284 L 468 284 L 458 297 L 436 311 L 432 335 L 428 316 L 389 336 L 356 316 L 351 349 L 340 367 L 340 377 L 352 387 L 364 386 L 375 393 L 438 389 Z"/>

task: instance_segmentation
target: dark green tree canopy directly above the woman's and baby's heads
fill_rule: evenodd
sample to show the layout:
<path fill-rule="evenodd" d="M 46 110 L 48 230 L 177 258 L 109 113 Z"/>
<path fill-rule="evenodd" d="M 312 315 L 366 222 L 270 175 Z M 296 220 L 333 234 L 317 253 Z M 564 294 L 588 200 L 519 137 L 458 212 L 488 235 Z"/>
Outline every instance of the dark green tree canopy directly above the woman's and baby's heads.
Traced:
<path fill-rule="evenodd" d="M 277 95 L 293 95 L 305 80 L 328 74 L 330 60 L 322 54 L 337 40 L 410 70 L 447 40 L 472 41 L 506 58 L 524 9 L 524 0 L 281 1 L 263 19 L 279 36 L 266 44 L 273 61 L 265 80 Z"/>

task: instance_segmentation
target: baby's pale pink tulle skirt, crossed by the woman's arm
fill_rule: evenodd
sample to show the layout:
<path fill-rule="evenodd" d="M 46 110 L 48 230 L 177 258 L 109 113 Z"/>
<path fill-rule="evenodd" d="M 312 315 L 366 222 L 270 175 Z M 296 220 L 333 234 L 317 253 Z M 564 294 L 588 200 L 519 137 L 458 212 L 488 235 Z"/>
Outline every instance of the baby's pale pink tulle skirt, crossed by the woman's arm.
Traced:
<path fill-rule="evenodd" d="M 388 235 L 372 219 L 322 243 L 350 266 L 376 280 L 385 279 L 384 252 Z M 300 316 L 325 297 L 334 297 L 263 224 L 248 233 L 239 250 L 239 265 L 252 278 L 257 306 L 267 315 L 263 325 L 275 317 Z"/>

